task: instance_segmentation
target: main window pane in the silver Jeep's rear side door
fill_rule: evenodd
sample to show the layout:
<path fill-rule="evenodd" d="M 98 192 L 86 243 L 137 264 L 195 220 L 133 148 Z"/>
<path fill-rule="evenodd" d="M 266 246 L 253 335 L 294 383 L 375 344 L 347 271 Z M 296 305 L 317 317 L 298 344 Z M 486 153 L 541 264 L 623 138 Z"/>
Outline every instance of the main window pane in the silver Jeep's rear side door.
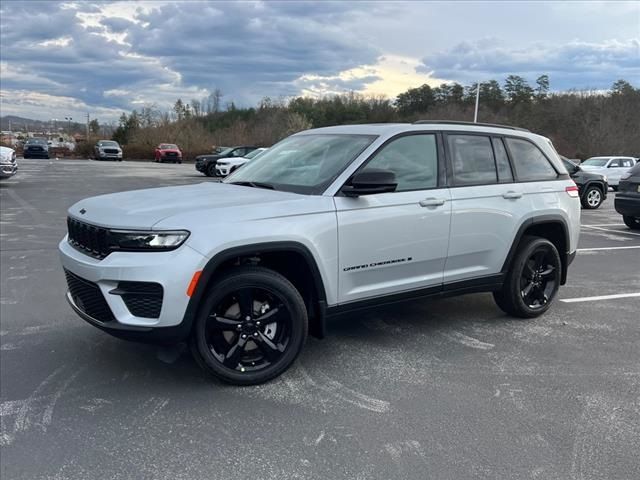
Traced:
<path fill-rule="evenodd" d="M 448 135 L 455 185 L 497 183 L 491 140 L 480 135 Z"/>

